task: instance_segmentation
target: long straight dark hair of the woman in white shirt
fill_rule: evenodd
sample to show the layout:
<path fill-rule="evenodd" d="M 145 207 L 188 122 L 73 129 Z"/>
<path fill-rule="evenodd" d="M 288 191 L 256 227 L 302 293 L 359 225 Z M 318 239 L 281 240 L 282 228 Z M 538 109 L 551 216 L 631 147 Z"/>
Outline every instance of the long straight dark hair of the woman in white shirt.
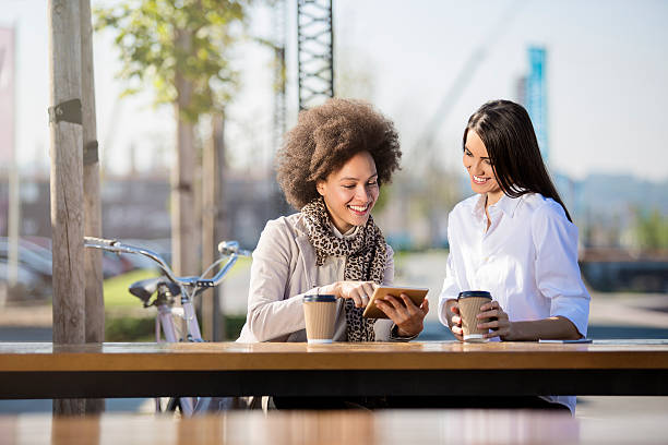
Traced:
<path fill-rule="evenodd" d="M 558 202 L 570 221 L 571 215 L 557 192 L 540 156 L 536 133 L 528 112 L 510 100 L 491 100 L 468 118 L 468 130 L 485 143 L 499 187 L 510 197 L 540 193 Z"/>

